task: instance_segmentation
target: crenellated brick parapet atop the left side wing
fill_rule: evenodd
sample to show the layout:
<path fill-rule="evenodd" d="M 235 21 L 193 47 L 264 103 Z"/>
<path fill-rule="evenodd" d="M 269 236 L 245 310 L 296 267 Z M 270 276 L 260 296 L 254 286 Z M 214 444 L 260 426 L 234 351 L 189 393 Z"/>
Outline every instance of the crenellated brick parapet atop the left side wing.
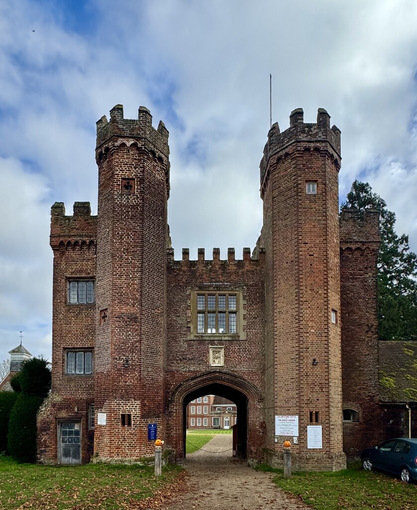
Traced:
<path fill-rule="evenodd" d="M 97 237 L 97 216 L 91 215 L 90 202 L 74 202 L 73 215 L 66 216 L 63 202 L 50 208 L 50 246 L 91 244 Z"/>

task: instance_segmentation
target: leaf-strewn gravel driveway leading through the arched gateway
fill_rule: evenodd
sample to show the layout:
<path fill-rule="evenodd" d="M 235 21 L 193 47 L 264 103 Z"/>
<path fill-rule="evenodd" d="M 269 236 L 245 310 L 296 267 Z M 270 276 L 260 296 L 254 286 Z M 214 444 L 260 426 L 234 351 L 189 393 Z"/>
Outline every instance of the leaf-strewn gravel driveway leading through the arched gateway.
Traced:
<path fill-rule="evenodd" d="M 287 496 L 272 482 L 271 473 L 255 471 L 231 456 L 231 434 L 218 434 L 203 448 L 187 455 L 189 472 L 184 494 L 166 510 L 306 510 L 307 505 Z M 219 452 L 219 453 L 213 453 Z"/>

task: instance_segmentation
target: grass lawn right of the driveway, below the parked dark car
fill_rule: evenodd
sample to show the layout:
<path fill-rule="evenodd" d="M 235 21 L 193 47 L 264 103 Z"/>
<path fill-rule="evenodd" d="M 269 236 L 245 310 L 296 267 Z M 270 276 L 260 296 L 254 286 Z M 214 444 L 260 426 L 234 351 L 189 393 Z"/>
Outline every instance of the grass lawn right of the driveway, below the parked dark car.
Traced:
<path fill-rule="evenodd" d="M 265 466 L 259 469 L 276 472 L 274 481 L 278 487 L 301 496 L 304 503 L 316 510 L 417 508 L 417 486 L 407 485 L 400 479 L 377 471 L 364 471 L 359 463 L 334 473 L 293 473 L 289 479 L 285 479 L 280 470 Z"/>

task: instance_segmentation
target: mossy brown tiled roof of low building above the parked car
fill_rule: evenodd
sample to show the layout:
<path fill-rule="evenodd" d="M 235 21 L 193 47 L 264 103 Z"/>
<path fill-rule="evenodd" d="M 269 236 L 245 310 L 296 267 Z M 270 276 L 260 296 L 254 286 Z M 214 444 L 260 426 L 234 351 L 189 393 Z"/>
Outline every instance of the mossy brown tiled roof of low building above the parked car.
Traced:
<path fill-rule="evenodd" d="M 379 391 L 382 402 L 417 402 L 417 342 L 380 341 Z"/>

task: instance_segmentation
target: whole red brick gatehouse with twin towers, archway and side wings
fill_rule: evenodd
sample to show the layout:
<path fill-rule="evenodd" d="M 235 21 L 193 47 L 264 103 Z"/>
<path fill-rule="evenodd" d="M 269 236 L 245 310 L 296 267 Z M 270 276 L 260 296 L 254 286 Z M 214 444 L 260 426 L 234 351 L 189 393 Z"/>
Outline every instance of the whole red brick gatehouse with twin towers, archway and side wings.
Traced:
<path fill-rule="evenodd" d="M 185 456 L 185 409 L 237 404 L 238 455 L 337 470 L 380 439 L 379 216 L 338 213 L 340 131 L 294 110 L 260 162 L 256 246 L 190 260 L 171 248 L 168 131 L 149 111 L 97 122 L 98 215 L 51 208 L 53 388 L 38 416 L 42 463 L 138 461 L 148 425 Z"/>

